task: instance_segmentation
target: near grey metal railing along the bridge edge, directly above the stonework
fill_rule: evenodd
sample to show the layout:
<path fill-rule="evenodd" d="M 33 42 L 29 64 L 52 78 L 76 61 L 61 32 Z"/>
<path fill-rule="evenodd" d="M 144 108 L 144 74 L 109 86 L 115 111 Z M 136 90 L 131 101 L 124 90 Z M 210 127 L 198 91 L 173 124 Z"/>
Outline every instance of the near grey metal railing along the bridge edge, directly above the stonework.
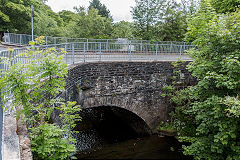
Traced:
<path fill-rule="evenodd" d="M 107 43 L 107 42 L 72 42 L 38 46 L 42 49 L 54 47 L 64 49 L 68 54 L 64 60 L 68 65 L 94 61 L 158 61 L 158 60 L 190 60 L 185 55 L 192 45 L 169 44 L 139 44 L 139 43 Z M 25 53 L 27 48 L 15 48 L 14 51 L 0 51 L 0 57 L 16 56 Z M 23 56 L 17 56 L 15 61 L 27 63 Z M 3 69 L 5 66 L 3 66 Z"/>

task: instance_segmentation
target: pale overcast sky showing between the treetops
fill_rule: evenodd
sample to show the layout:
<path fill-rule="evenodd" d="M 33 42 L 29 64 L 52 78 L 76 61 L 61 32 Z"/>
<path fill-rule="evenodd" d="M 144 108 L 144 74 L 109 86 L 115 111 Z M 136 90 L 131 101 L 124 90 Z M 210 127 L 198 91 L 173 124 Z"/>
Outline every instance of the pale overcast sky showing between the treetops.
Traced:
<path fill-rule="evenodd" d="M 74 6 L 89 6 L 90 0 L 48 0 L 46 3 L 54 12 L 61 10 L 74 11 Z M 135 0 L 100 0 L 110 10 L 114 22 L 121 20 L 132 22 L 131 7 L 134 7 Z"/>

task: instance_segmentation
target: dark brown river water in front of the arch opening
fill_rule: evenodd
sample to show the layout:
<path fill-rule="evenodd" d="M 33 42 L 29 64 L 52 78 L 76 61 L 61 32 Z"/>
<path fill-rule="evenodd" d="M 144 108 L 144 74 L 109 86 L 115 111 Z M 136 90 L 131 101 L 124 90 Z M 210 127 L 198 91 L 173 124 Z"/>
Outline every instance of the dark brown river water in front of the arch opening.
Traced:
<path fill-rule="evenodd" d="M 76 156 L 78 159 L 191 159 L 182 154 L 181 145 L 174 137 L 159 135 L 105 144 Z"/>

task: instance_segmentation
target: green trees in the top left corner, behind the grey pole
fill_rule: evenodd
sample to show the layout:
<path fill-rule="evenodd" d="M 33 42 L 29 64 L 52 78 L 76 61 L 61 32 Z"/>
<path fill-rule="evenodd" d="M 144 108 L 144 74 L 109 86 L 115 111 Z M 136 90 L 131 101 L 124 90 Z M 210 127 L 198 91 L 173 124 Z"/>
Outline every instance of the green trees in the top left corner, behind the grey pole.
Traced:
<path fill-rule="evenodd" d="M 31 5 L 35 15 L 34 34 L 57 36 L 55 33 L 63 21 L 42 0 L 1 0 L 0 32 L 31 33 Z"/>

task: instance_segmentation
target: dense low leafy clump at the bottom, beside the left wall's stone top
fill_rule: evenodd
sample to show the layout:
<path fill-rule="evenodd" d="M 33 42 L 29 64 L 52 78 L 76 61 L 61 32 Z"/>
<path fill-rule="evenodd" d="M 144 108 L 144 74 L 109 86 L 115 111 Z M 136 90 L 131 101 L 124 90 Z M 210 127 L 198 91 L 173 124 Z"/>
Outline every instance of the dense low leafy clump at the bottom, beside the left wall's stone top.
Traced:
<path fill-rule="evenodd" d="M 76 151 L 71 139 L 65 137 L 65 130 L 55 124 L 44 123 L 32 128 L 30 138 L 35 159 L 63 160 Z"/>

